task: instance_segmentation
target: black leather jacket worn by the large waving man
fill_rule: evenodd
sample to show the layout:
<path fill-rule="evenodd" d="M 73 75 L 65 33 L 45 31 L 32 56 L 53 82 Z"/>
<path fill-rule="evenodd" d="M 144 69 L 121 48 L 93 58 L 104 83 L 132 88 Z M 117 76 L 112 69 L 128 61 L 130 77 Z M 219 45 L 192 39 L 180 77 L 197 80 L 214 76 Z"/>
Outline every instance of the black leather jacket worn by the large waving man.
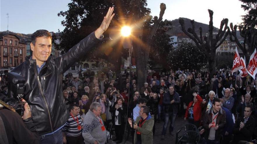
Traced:
<path fill-rule="evenodd" d="M 63 73 L 98 41 L 94 32 L 91 33 L 66 54 L 58 58 L 50 56 L 39 73 L 36 60 L 29 58 L 12 70 L 25 77 L 24 99 L 30 106 L 39 135 L 55 131 L 68 120 L 69 111 L 62 94 Z"/>

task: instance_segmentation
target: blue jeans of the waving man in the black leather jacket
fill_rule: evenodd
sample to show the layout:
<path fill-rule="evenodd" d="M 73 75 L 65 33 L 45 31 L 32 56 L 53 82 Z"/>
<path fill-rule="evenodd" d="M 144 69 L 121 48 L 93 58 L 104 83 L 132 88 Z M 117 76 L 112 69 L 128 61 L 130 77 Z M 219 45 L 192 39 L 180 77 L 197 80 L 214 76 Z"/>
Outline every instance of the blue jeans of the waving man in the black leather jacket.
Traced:
<path fill-rule="evenodd" d="M 40 144 L 63 144 L 62 129 L 54 134 L 40 136 Z"/>

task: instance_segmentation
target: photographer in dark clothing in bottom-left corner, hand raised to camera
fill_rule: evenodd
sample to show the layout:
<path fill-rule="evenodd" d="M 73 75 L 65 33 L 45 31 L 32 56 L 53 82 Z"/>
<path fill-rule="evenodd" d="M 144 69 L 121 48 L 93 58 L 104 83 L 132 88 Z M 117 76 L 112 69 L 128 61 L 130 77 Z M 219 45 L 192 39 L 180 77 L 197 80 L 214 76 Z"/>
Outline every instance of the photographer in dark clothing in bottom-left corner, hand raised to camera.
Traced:
<path fill-rule="evenodd" d="M 20 117 L 17 112 L 10 111 L 7 108 L 9 106 L 5 102 L 8 101 L 8 99 L 9 98 L 1 94 L 0 143 L 39 144 L 39 136 L 36 130 L 37 127 L 33 123 L 28 103 L 25 100 L 22 100 L 25 103 L 25 111 L 23 116 Z"/>

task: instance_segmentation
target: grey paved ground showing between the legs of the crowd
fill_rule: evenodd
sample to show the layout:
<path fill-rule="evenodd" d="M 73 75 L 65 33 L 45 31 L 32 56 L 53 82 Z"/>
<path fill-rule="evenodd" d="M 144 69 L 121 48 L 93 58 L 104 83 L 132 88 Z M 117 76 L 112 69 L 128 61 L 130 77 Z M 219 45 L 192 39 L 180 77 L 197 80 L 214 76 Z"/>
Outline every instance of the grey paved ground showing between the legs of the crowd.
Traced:
<path fill-rule="evenodd" d="M 162 127 L 164 122 L 160 122 L 160 123 L 156 123 L 155 126 L 155 135 L 154 135 L 154 144 L 173 144 L 176 141 L 176 132 L 183 126 L 185 125 L 187 122 L 185 122 L 183 120 L 183 118 L 176 118 L 175 121 L 175 127 L 174 127 L 174 131 L 173 131 L 173 136 L 169 134 L 169 130 L 167 129 L 167 133 L 165 136 L 164 140 L 161 140 L 162 137 Z M 169 123 L 170 124 L 170 123 Z M 184 130 L 182 129 L 180 131 L 180 135 L 182 135 L 184 132 Z M 111 140 L 109 140 L 108 144 L 114 144 L 115 142 L 112 142 Z M 126 141 L 125 144 L 132 144 L 132 137 L 130 136 L 129 139 Z"/>

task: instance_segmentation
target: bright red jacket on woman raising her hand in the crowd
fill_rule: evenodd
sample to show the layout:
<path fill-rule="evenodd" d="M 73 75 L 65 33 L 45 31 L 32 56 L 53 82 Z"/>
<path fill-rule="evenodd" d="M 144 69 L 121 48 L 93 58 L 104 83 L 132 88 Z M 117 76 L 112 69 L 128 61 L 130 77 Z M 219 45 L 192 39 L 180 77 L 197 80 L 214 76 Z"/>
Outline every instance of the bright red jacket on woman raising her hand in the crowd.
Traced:
<path fill-rule="evenodd" d="M 198 121 L 201 118 L 201 114 L 202 114 L 202 107 L 201 107 L 201 103 L 203 101 L 202 97 L 200 97 L 199 95 L 196 96 L 197 98 L 197 102 L 195 103 L 194 107 L 193 107 L 193 113 L 194 113 L 194 120 Z M 187 106 L 187 110 L 185 113 L 185 118 L 187 118 L 188 115 L 188 109 L 192 106 L 194 101 L 190 102 Z"/>

